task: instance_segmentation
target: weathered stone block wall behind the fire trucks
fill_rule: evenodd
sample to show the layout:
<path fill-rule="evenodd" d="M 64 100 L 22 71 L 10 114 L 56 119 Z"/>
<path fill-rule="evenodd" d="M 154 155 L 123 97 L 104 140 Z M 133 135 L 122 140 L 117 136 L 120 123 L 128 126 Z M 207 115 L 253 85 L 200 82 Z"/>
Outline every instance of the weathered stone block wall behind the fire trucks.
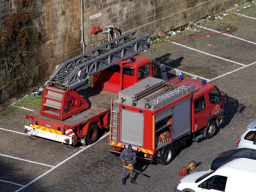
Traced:
<path fill-rule="evenodd" d="M 85 51 L 108 39 L 107 33 L 92 34 L 94 26 L 106 31 L 105 26 L 114 25 L 119 34 L 138 30 L 138 36 L 145 33 L 156 36 L 160 31 L 178 28 L 245 1 L 83 0 Z M 15 4 L 14 0 L 0 0 L 0 3 L 0 19 L 3 20 L 15 11 Z M 37 5 L 43 18 L 40 23 L 42 41 L 28 48 L 32 57 L 11 73 L 7 72 L 6 65 L 0 66 L 0 103 L 51 75 L 56 64 L 83 52 L 81 0 L 37 0 Z M 183 12 L 186 18 L 182 18 Z M 29 77 L 24 76 L 24 71 Z"/>

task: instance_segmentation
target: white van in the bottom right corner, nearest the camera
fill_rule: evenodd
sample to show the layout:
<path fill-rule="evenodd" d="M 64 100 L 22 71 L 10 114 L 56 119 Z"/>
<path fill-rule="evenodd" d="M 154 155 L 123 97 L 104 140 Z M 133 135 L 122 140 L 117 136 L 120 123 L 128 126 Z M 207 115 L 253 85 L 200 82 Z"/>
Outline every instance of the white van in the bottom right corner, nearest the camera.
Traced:
<path fill-rule="evenodd" d="M 255 192 L 256 160 L 234 159 L 215 171 L 194 172 L 180 180 L 174 192 Z"/>

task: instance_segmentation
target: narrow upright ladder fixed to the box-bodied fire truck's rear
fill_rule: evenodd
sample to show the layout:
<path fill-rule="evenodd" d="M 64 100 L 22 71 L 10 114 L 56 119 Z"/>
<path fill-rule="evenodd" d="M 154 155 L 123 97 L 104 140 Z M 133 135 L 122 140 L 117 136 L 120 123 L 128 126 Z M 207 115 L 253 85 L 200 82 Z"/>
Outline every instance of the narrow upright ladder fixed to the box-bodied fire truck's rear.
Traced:
<path fill-rule="evenodd" d="M 113 100 L 114 98 L 114 100 Z M 116 96 L 111 97 L 111 114 L 110 114 L 110 141 L 117 142 L 118 136 L 118 104 L 115 107 L 113 101 L 116 100 Z"/>

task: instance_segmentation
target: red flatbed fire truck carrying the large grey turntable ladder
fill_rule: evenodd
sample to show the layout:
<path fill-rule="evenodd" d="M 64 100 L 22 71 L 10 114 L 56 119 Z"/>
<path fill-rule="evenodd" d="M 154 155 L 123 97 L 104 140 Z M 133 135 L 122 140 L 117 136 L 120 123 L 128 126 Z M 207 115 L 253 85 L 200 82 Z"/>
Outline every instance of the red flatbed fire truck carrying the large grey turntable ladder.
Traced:
<path fill-rule="evenodd" d="M 140 55 L 149 48 L 149 34 L 133 30 L 60 63 L 44 88 L 41 109 L 24 132 L 75 145 L 92 144 L 99 129 L 109 128 L 114 94 L 155 73 L 156 61 Z M 94 88 L 88 87 L 93 75 Z"/>

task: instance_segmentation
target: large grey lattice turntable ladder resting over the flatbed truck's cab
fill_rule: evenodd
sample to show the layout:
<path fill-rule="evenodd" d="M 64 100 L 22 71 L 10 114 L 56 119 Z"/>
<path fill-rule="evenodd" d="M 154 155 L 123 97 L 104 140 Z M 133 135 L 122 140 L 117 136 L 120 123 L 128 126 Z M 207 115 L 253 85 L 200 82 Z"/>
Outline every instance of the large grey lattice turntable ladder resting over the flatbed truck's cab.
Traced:
<path fill-rule="evenodd" d="M 88 78 L 149 48 L 149 34 L 133 30 L 56 66 L 50 82 L 72 89 L 87 88 Z M 104 49 L 105 47 L 105 49 Z"/>

